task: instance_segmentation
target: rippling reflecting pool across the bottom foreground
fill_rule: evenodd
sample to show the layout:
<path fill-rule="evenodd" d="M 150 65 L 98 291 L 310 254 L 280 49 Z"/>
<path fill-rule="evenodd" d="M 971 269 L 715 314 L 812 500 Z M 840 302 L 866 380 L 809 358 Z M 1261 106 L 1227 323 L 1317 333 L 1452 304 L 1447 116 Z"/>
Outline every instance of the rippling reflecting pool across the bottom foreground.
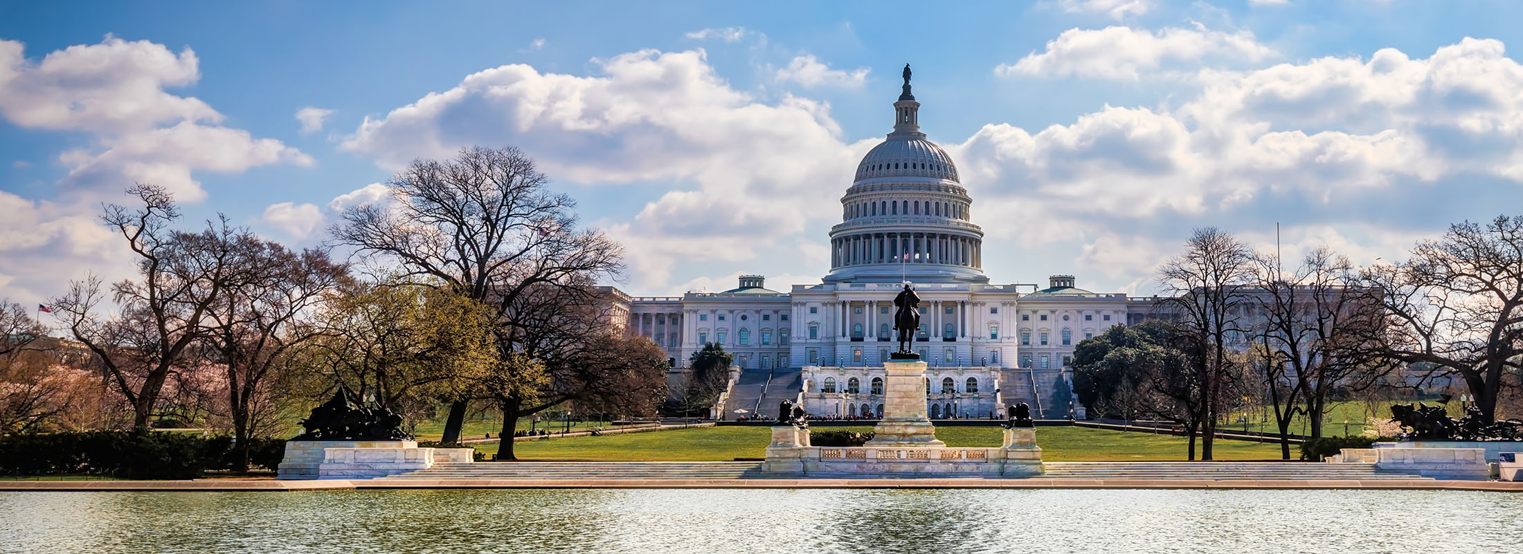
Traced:
<path fill-rule="evenodd" d="M 0 492 L 0 552 L 1499 552 L 1523 495 L 1383 490 Z"/>

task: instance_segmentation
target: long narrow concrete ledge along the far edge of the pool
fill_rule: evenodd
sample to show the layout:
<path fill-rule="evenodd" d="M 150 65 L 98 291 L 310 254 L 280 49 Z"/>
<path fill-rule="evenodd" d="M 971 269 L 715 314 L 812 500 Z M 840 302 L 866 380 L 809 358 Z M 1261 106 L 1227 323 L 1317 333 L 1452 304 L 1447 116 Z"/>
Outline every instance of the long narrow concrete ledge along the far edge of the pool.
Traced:
<path fill-rule="evenodd" d="M 1480 490 L 1523 492 L 1523 482 L 1404 479 L 196 479 L 196 481 L 0 481 L 0 490 L 225 490 L 297 492 L 350 489 L 1269 489 L 1269 490 Z"/>

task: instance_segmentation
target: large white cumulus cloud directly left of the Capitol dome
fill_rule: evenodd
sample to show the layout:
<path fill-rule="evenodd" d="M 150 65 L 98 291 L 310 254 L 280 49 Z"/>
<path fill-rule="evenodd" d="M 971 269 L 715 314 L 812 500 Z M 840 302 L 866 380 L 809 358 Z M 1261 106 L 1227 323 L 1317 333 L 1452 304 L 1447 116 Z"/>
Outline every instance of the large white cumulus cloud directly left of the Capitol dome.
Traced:
<path fill-rule="evenodd" d="M 838 213 L 836 190 L 818 183 L 850 181 L 871 146 L 842 142 L 825 103 L 766 103 L 730 87 L 702 50 L 641 50 L 597 64 L 595 76 L 483 70 L 366 119 L 341 148 L 398 167 L 466 145 L 521 145 L 557 180 L 679 183 L 635 225 L 611 228 L 637 269 L 646 263 L 637 279 L 661 280 L 675 260 L 754 254 L 809 218 Z"/>

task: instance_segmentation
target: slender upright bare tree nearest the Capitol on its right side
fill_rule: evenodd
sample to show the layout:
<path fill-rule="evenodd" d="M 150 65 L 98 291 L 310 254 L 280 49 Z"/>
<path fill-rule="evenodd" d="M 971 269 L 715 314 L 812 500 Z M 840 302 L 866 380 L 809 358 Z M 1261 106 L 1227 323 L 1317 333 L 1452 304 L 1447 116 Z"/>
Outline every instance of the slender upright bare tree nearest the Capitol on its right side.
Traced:
<path fill-rule="evenodd" d="M 1246 336 L 1243 306 L 1244 288 L 1253 282 L 1252 262 L 1247 245 L 1211 227 L 1197 228 L 1185 242 L 1185 253 L 1159 271 L 1159 282 L 1174 292 L 1159 301 L 1188 327 L 1188 349 L 1197 364 L 1193 377 L 1200 394 L 1196 406 L 1202 423 L 1200 460 L 1212 458 L 1217 419 L 1226 408 L 1223 399 L 1238 385 L 1228 342 Z"/>

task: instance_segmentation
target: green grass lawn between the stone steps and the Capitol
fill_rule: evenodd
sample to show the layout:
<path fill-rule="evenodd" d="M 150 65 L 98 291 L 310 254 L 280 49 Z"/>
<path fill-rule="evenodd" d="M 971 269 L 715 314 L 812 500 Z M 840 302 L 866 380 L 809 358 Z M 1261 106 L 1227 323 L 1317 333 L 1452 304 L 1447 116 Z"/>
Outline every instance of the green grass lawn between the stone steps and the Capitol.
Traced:
<path fill-rule="evenodd" d="M 871 431 L 862 428 L 819 428 Z M 1001 428 L 940 428 L 937 438 L 947 446 L 999 446 Z M 728 461 L 762 458 L 771 441 L 769 428 L 723 426 L 606 437 L 573 437 L 522 441 L 515 446 L 519 460 L 567 461 Z M 1037 446 L 1045 461 L 1144 461 L 1185 460 L 1185 438 L 1145 432 L 1089 428 L 1037 428 Z M 496 443 L 477 444 L 487 455 Z M 1295 452 L 1295 451 L 1292 451 Z M 1279 446 L 1235 440 L 1215 441 L 1217 460 L 1279 460 Z"/>

